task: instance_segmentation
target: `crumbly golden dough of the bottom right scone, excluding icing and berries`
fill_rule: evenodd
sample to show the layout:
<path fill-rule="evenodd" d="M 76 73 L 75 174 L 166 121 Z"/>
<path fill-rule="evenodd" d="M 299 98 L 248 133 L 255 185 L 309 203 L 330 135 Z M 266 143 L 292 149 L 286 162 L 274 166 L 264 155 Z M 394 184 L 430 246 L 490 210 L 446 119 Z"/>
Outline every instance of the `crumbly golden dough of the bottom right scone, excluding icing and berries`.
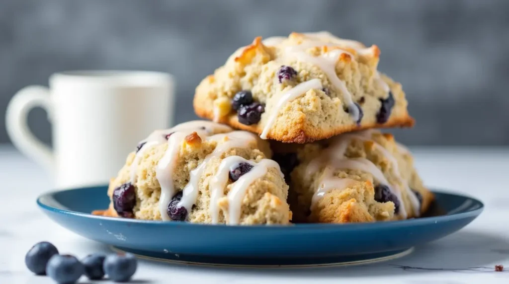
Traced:
<path fill-rule="evenodd" d="M 371 161 L 381 170 L 391 187 L 403 188 L 404 184 L 401 182 L 406 182 L 411 190 L 417 191 L 422 196 L 420 212 L 426 212 L 434 196 L 417 174 L 411 153 L 395 143 L 390 134 L 370 131 L 370 136 L 369 139 L 358 139 L 355 136 L 351 138 L 345 151 L 345 159 L 364 158 Z M 275 152 L 293 152 L 298 156 L 299 164 L 290 174 L 289 203 L 294 214 L 294 222 L 356 223 L 401 219 L 400 215 L 394 214 L 393 202 L 375 200 L 375 185 L 378 181 L 369 172 L 334 169 L 330 163 L 323 163 L 320 164 L 318 171 L 308 174 L 306 170 L 310 163 L 316 162 L 317 157 L 320 157 L 320 154 L 333 143 L 333 139 L 338 137 L 305 145 L 290 144 L 290 147 L 289 144 L 273 142 Z M 386 149 L 397 161 L 397 172 L 394 171 L 394 165 L 388 159 L 387 152 L 384 153 L 380 147 Z M 328 170 L 331 172 L 327 172 Z M 353 182 L 348 183 L 346 187 L 333 188 L 312 206 L 312 198 L 322 185 L 326 174 L 341 179 L 352 179 Z M 407 218 L 416 217 L 408 192 L 402 190 L 401 194 L 403 204 L 400 206 L 405 207 Z"/>

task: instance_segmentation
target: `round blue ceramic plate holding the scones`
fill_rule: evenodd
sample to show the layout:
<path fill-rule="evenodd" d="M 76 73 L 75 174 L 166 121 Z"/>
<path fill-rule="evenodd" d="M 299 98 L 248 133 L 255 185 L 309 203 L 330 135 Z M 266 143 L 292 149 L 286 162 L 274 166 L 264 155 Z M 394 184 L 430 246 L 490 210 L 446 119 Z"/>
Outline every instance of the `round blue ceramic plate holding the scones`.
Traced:
<path fill-rule="evenodd" d="M 159 260 L 208 265 L 317 266 L 385 260 L 454 233 L 483 211 L 466 196 L 435 192 L 427 216 L 364 224 L 225 226 L 145 221 L 90 214 L 105 209 L 106 186 L 40 196 L 56 223 L 118 250 Z"/>

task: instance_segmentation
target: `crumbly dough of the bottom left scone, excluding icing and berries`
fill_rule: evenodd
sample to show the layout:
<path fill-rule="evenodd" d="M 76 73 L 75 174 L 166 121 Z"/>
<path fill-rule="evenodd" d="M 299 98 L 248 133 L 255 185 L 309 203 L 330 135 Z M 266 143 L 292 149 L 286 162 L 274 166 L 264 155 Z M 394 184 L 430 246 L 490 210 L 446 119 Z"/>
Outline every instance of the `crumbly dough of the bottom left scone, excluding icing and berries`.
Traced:
<path fill-rule="evenodd" d="M 184 186 L 189 182 L 190 171 L 199 166 L 204 159 L 212 153 L 212 151 L 224 141 L 208 141 L 202 140 L 195 132 L 188 135 L 180 144 L 178 157 L 176 160 L 173 181 L 177 191 L 182 191 Z M 144 155 L 139 160 L 136 168 L 136 179 L 134 182 L 136 191 L 136 205 L 133 209 L 135 218 L 146 220 L 161 220 L 158 209 L 159 197 L 161 195 L 161 187 L 156 178 L 156 166 L 163 157 L 168 143 L 156 145 L 144 151 Z M 260 150 L 262 149 L 262 150 Z M 264 153 L 265 152 L 265 153 Z M 260 160 L 270 157 L 271 152 L 266 141 L 257 140 L 249 143 L 245 148 L 231 148 L 219 157 L 210 159 L 203 171 L 199 181 L 199 196 L 189 212 L 187 221 L 191 223 L 212 223 L 210 208 L 210 182 L 213 175 L 217 172 L 221 161 L 228 156 L 238 155 L 246 160 L 259 162 Z M 126 160 L 125 165 L 120 170 L 118 176 L 110 181 L 108 188 L 108 196 L 112 194 L 116 187 L 130 181 L 131 164 L 135 157 L 135 152 L 131 152 Z M 228 193 L 232 189 L 233 182 L 228 181 L 224 187 L 224 197 L 219 199 L 219 224 L 228 223 L 229 216 L 229 200 Z M 252 182 L 246 190 L 245 196 L 241 203 L 240 225 L 255 224 L 289 224 L 291 219 L 291 211 L 287 203 L 288 185 L 280 172 L 276 168 L 268 168 L 267 172 L 254 182 Z M 99 212 L 101 213 L 101 212 Z M 113 204 L 110 203 L 109 208 L 102 212 L 106 216 L 118 216 Z"/>

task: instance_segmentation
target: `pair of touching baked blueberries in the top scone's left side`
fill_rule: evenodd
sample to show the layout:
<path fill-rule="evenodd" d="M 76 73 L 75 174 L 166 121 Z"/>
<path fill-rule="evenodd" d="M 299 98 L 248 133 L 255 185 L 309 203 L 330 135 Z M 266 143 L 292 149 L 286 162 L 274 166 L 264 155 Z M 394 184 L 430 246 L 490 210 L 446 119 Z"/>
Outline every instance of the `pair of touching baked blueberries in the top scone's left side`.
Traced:
<path fill-rule="evenodd" d="M 265 107 L 253 101 L 251 91 L 242 90 L 232 99 L 232 108 L 237 111 L 239 122 L 245 125 L 256 124 L 262 118 Z"/>

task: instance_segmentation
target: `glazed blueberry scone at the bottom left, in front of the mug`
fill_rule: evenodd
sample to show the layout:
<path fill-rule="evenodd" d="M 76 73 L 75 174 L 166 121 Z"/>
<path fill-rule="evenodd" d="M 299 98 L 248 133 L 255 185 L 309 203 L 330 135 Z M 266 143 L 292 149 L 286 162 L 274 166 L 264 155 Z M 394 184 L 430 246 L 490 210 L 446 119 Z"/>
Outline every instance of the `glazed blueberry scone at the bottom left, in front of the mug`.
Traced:
<path fill-rule="evenodd" d="M 153 132 L 110 181 L 107 216 L 289 224 L 288 185 L 267 141 L 210 121 Z"/>

